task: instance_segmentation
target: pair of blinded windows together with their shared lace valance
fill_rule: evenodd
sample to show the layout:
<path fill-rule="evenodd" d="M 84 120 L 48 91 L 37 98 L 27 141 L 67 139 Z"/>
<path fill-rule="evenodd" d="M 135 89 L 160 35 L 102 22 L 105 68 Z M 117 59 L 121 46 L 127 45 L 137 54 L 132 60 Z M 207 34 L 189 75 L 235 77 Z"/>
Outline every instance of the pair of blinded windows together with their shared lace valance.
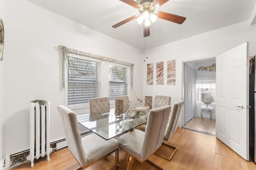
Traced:
<path fill-rule="evenodd" d="M 90 98 L 128 95 L 134 64 L 70 49 L 62 49 L 62 89 L 65 105 L 88 106 Z"/>

